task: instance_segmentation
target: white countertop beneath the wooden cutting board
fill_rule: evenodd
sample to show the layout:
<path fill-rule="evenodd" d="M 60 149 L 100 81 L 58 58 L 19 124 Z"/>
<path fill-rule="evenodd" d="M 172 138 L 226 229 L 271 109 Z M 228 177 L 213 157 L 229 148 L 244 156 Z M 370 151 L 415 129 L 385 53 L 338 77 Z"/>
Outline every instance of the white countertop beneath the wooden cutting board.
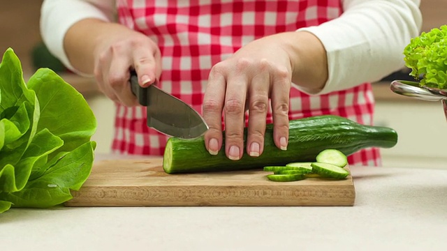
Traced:
<path fill-rule="evenodd" d="M 447 170 L 351 172 L 350 207 L 12 208 L 0 214 L 0 250 L 447 248 Z"/>

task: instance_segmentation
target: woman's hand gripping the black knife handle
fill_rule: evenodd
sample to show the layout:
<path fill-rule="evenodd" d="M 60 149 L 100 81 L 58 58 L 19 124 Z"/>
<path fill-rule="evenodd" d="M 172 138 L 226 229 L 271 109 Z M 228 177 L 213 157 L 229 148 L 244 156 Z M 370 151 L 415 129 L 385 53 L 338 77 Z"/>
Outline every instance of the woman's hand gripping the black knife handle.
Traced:
<path fill-rule="evenodd" d="M 93 56 L 94 76 L 99 89 L 111 100 L 126 106 L 138 105 L 129 84 L 131 69 L 135 69 L 142 87 L 154 83 L 161 75 L 159 47 L 137 31 L 102 36 Z"/>

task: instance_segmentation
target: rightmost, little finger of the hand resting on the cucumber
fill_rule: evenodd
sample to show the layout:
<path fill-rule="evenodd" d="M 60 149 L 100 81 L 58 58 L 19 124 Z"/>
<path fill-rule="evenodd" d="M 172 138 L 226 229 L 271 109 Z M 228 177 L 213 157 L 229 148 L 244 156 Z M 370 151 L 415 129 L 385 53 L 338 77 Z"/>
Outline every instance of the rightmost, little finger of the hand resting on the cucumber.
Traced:
<path fill-rule="evenodd" d="M 287 70 L 277 70 L 272 76 L 272 116 L 274 144 L 287 150 L 288 144 L 288 104 L 291 77 Z"/>

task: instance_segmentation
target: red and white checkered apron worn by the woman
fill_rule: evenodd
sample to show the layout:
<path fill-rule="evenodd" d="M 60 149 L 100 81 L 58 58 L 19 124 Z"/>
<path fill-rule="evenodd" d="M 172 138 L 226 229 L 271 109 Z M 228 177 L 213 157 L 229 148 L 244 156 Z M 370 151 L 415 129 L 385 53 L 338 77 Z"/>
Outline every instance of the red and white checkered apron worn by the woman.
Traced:
<path fill-rule="evenodd" d="M 340 0 L 118 0 L 117 7 L 119 22 L 159 45 L 163 64 L 159 87 L 199 112 L 215 63 L 257 38 L 318 25 L 342 13 Z M 336 114 L 371 124 L 373 112 L 370 84 L 323 96 L 291 89 L 289 119 Z M 145 107 L 117 104 L 115 129 L 114 152 L 163 155 L 168 137 L 146 126 Z M 354 153 L 349 163 L 381 165 L 379 149 Z"/>

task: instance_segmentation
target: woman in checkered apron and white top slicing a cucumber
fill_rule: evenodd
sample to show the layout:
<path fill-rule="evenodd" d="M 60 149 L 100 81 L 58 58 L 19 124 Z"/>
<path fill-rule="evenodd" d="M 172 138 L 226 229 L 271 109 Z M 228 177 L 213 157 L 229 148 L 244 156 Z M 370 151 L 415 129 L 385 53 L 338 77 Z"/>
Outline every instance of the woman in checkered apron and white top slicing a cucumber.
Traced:
<path fill-rule="evenodd" d="M 203 112 L 205 146 L 238 160 L 263 153 L 266 123 L 286 150 L 288 121 L 336 114 L 372 124 L 368 82 L 403 67 L 421 26 L 419 0 L 45 0 L 43 40 L 68 68 L 94 75 L 117 103 L 114 151 L 161 155 L 129 88 L 159 87 Z M 114 10 L 117 10 L 115 13 Z M 113 22 L 117 17 L 118 23 Z M 248 109 L 248 119 L 245 111 Z M 243 128 L 248 127 L 244 146 Z M 379 149 L 349 156 L 381 165 Z"/>

